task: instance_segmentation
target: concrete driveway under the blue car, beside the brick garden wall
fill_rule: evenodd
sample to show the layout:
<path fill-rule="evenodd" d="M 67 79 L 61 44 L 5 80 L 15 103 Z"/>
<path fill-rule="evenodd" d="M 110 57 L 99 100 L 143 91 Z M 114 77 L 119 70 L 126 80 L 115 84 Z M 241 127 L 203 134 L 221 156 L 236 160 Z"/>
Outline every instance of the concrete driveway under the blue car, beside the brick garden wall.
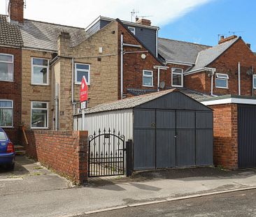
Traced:
<path fill-rule="evenodd" d="M 69 188 L 69 181 L 25 156 L 16 156 L 15 169 L 0 167 L 0 197 Z"/>

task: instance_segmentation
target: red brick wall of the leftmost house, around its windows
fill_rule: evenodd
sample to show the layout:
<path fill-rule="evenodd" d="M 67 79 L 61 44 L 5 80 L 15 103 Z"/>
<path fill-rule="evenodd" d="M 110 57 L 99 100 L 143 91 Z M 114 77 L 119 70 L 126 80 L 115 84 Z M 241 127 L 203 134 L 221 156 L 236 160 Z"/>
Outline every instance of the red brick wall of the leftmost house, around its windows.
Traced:
<path fill-rule="evenodd" d="M 0 47 L 0 53 L 13 54 L 14 80 L 13 82 L 0 81 L 0 99 L 13 100 L 13 128 L 3 128 L 14 144 L 20 143 L 21 125 L 21 49 Z"/>

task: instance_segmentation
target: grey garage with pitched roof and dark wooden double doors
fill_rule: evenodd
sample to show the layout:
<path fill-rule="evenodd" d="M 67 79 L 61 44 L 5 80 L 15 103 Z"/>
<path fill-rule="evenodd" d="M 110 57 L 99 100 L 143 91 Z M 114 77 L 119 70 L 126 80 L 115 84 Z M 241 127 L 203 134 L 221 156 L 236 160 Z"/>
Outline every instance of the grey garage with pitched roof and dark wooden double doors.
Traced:
<path fill-rule="evenodd" d="M 134 170 L 213 165 L 213 111 L 178 89 L 98 105 L 85 126 L 90 135 L 109 129 L 132 140 Z"/>

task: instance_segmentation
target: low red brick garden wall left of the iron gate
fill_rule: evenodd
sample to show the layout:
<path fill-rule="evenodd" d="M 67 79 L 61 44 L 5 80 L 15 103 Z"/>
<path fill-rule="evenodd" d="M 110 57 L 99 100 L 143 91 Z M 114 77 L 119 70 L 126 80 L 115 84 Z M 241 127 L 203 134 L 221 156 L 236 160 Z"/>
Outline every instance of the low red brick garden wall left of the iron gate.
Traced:
<path fill-rule="evenodd" d="M 78 184 L 87 181 L 87 131 L 25 132 L 28 156 Z"/>

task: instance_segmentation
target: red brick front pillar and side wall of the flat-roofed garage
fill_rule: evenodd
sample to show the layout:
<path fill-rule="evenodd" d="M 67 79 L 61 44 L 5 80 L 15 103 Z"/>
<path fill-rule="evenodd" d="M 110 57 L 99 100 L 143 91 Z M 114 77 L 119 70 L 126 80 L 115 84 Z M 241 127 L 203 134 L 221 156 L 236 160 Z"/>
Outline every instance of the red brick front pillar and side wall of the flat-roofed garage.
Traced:
<path fill-rule="evenodd" d="M 237 105 L 212 105 L 213 162 L 229 169 L 238 167 Z"/>

